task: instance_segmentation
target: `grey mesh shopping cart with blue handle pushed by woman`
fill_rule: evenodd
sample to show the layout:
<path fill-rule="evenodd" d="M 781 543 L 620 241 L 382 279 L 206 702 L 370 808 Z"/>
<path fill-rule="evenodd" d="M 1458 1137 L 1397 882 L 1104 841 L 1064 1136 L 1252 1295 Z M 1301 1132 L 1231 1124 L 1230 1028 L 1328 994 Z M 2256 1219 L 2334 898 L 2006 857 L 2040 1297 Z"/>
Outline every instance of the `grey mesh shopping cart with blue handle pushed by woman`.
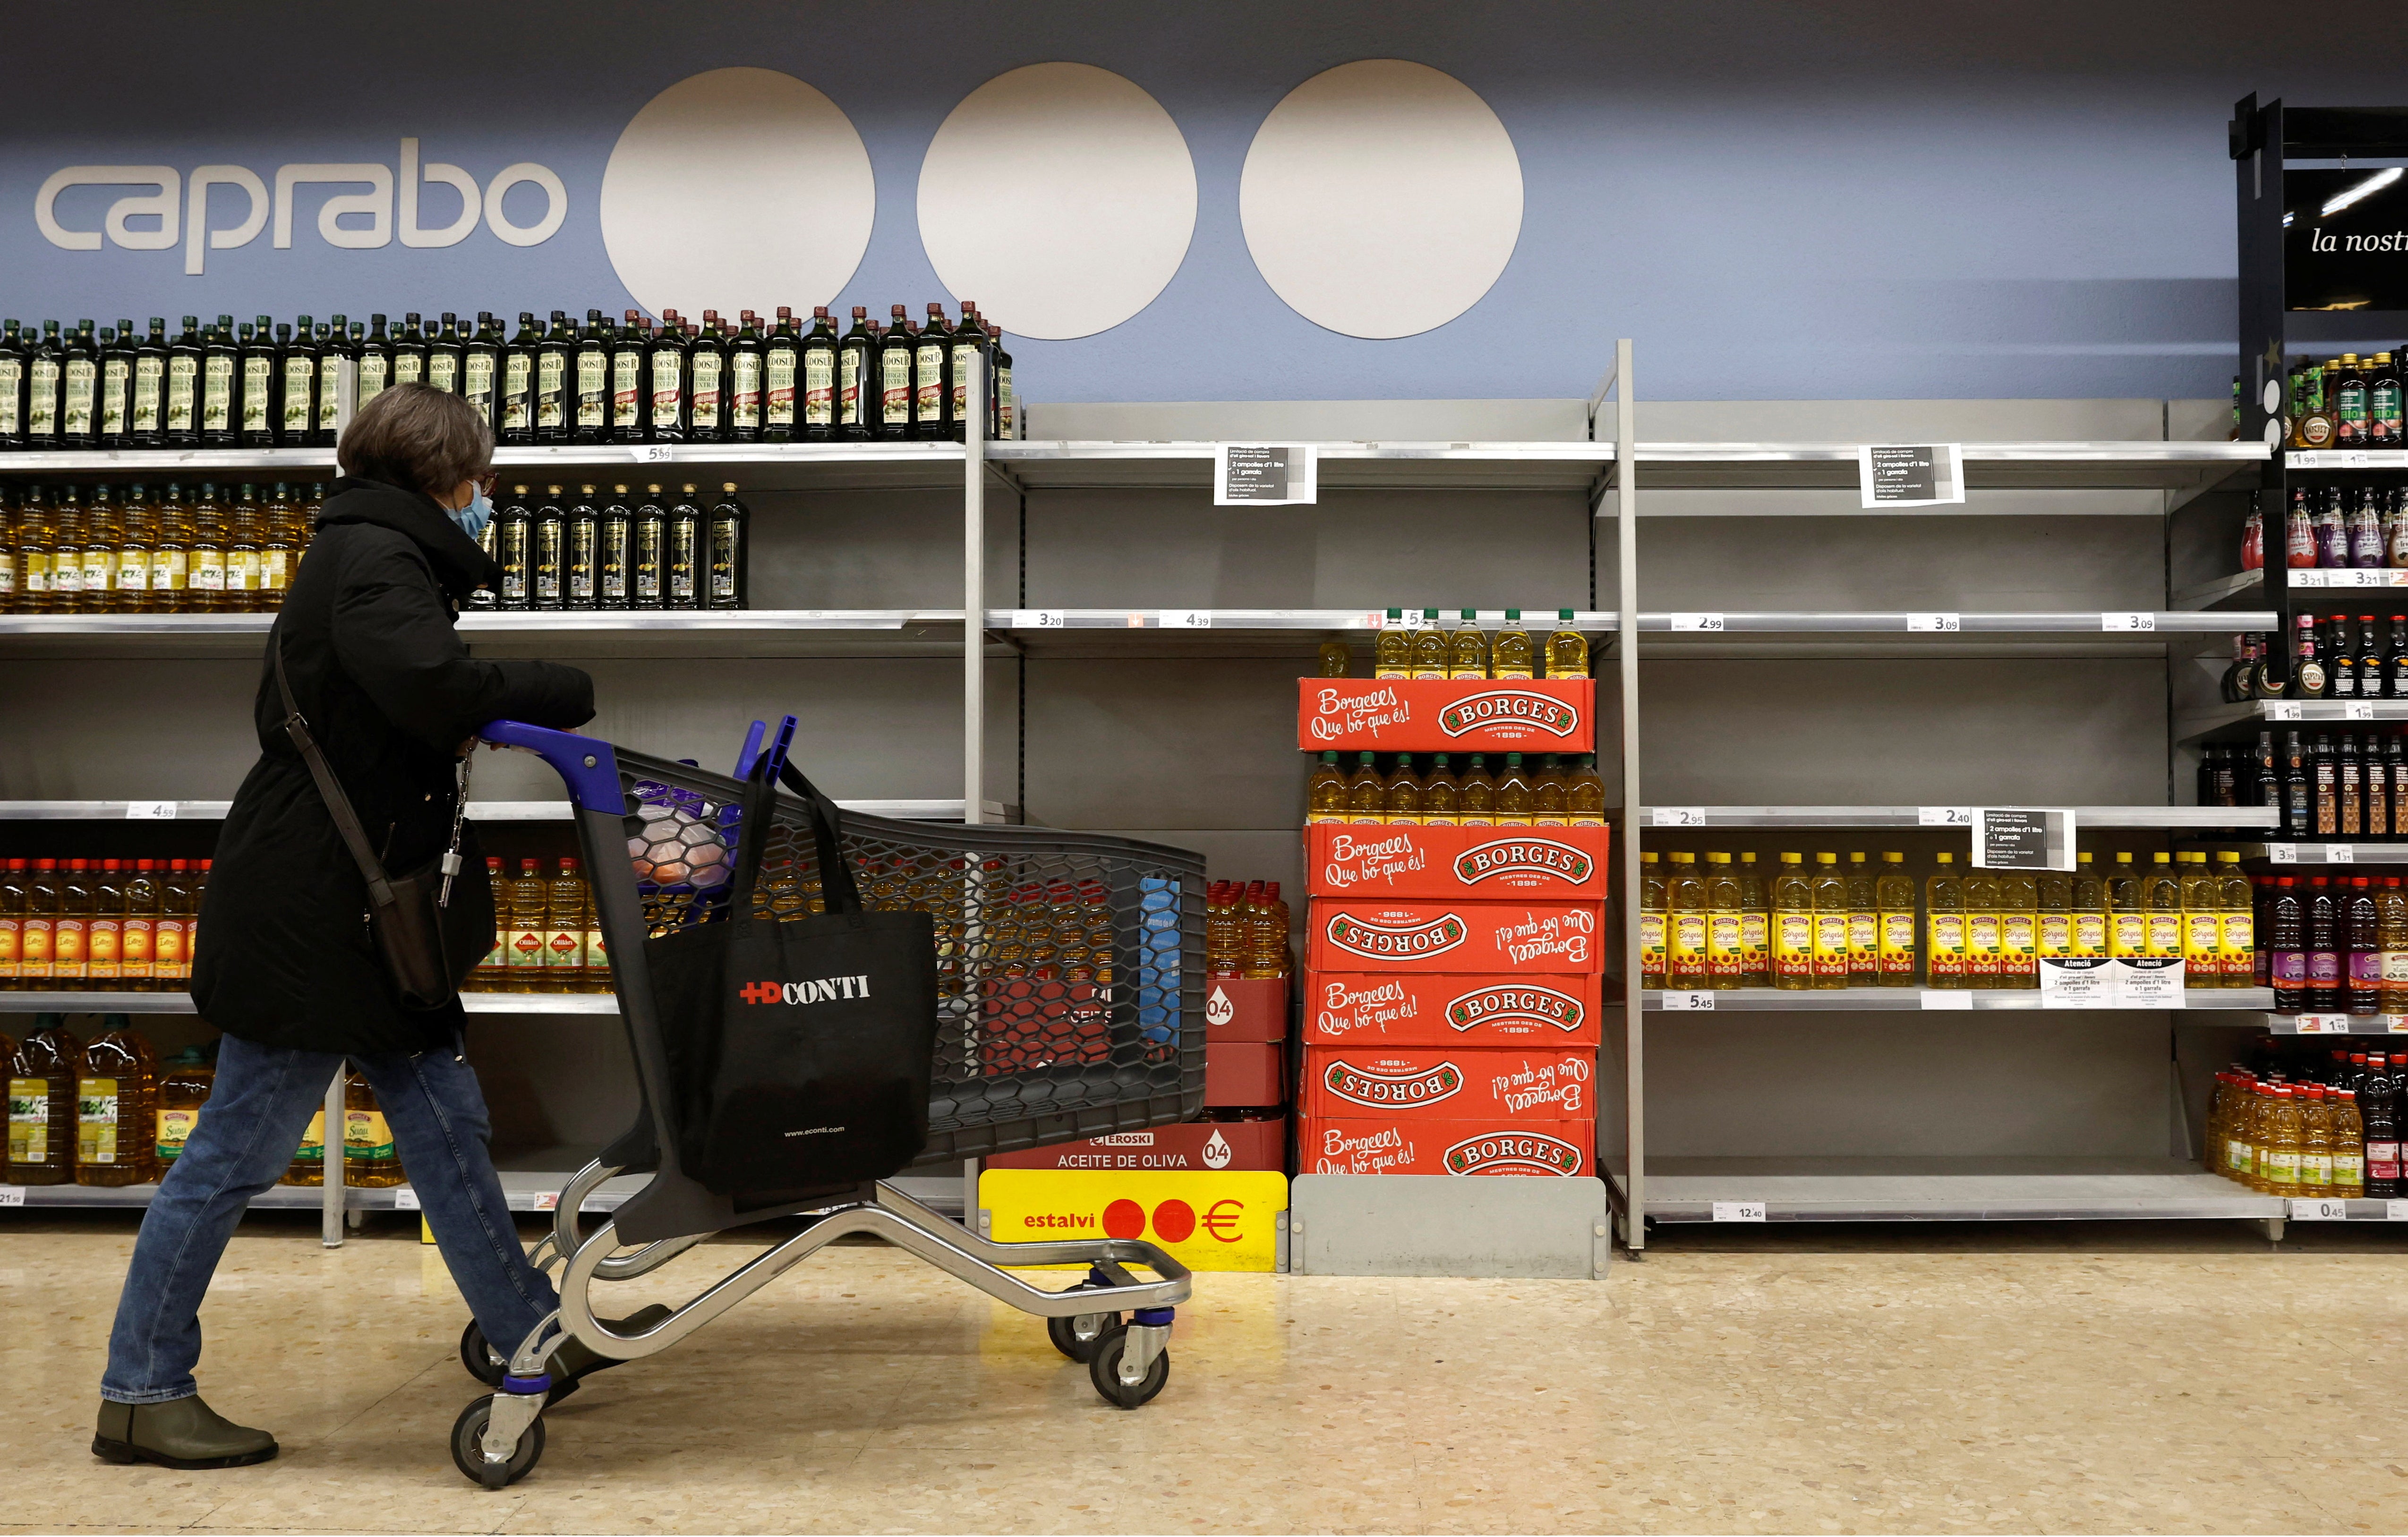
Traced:
<path fill-rule="evenodd" d="M 503 1489 L 544 1455 L 547 1366 L 566 1339 L 616 1361 L 657 1354 L 845 1233 L 886 1238 L 1045 1318 L 1047 1337 L 1088 1366 L 1108 1402 L 1134 1409 L 1161 1392 L 1173 1306 L 1187 1301 L 1190 1274 L 1151 1243 L 990 1243 L 886 1180 L 730 1197 L 689 1178 L 643 942 L 725 915 L 744 783 L 515 720 L 482 735 L 542 756 L 568 783 L 643 1108 L 561 1188 L 551 1233 L 535 1248 L 537 1265 L 561 1272 L 559 1313 L 508 1354 L 474 1323 L 460 1339 L 462 1364 L 494 1388 L 453 1424 L 462 1474 Z M 759 728 L 742 766 L 756 742 Z M 802 918 L 819 906 L 811 826 L 795 800 L 780 797 L 771 814 L 756 913 Z M 867 906 L 934 918 L 937 1072 L 920 1166 L 961 1171 L 963 1159 L 1168 1125 L 1204 1108 L 1199 855 L 1100 834 L 850 812 L 843 848 Z M 585 1229 L 578 1209 L 621 1173 L 650 1178 Z M 650 1327 L 621 1335 L 597 1320 L 597 1282 L 641 1277 L 713 1233 L 795 1214 L 807 1221 L 799 1233 Z M 1072 1289 L 1045 1291 L 1004 1265 L 1088 1272 Z M 1137 1279 L 1132 1265 L 1158 1279 Z"/>

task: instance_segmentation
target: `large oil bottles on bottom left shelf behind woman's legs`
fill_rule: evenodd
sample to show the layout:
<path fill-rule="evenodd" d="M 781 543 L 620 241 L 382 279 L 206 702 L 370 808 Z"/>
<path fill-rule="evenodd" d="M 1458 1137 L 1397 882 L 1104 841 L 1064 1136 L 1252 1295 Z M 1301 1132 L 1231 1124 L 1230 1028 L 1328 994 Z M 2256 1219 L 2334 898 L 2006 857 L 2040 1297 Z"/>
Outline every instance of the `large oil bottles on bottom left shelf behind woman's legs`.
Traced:
<path fill-rule="evenodd" d="M 36 1014 L 22 1043 L 0 1034 L 7 1067 L 7 1156 L 0 1185 L 147 1185 L 183 1154 L 200 1125 L 217 1070 L 202 1048 L 159 1062 L 125 1014 L 104 1014 L 89 1043 L 63 1014 Z M 368 1079 L 344 1079 L 342 1178 L 349 1185 L 405 1183 L 393 1130 Z M 325 1183 L 325 1113 L 311 1115 L 279 1185 Z"/>

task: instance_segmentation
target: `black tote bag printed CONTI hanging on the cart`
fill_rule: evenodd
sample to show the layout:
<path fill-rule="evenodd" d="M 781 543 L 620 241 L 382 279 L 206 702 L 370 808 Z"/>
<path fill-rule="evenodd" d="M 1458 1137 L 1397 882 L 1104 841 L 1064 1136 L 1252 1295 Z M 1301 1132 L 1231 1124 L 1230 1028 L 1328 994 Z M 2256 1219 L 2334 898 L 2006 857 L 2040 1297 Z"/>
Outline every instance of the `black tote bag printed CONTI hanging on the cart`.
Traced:
<path fill-rule="evenodd" d="M 754 913 L 775 788 L 744 790 L 727 918 L 645 942 L 679 1099 L 679 1161 L 715 1195 L 879 1180 L 927 1147 L 937 1053 L 937 928 L 862 908 L 843 812 L 792 766 L 819 848 L 826 913 Z"/>

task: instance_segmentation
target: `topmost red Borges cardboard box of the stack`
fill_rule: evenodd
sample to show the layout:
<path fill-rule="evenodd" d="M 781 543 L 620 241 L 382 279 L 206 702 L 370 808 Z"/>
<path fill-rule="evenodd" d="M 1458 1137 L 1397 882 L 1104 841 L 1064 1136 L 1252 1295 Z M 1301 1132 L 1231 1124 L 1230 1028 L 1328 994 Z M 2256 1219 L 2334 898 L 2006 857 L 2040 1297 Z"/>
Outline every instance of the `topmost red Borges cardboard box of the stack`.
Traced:
<path fill-rule="evenodd" d="M 1565 679 L 1296 679 L 1305 752 L 1597 752 L 1597 684 Z"/>

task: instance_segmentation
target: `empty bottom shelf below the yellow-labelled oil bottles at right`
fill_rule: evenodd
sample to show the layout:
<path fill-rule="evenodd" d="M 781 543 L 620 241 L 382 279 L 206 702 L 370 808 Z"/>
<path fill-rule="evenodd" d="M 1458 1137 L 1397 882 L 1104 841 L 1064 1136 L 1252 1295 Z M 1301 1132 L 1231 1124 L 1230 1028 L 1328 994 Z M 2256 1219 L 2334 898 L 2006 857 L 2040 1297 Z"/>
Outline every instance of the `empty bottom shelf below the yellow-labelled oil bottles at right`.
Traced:
<path fill-rule="evenodd" d="M 1647 1159 L 1647 1214 L 1714 1221 L 2100 1221 L 2283 1217 L 2186 1159 Z M 1729 1219 L 1729 1214 L 1724 1217 Z"/>

